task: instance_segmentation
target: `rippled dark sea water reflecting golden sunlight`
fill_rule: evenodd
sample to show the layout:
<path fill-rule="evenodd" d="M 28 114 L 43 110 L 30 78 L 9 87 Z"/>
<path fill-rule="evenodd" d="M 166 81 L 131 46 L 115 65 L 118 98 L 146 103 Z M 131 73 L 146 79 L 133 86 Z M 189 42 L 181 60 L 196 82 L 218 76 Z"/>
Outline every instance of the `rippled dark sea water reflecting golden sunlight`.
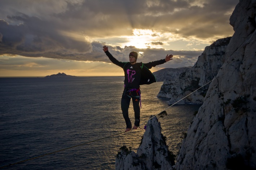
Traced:
<path fill-rule="evenodd" d="M 0 166 L 44 155 L 5 169 L 115 169 L 119 148 L 125 145 L 136 152 L 145 131 L 138 128 L 118 134 L 125 129 L 120 109 L 123 80 L 0 78 Z M 162 83 L 141 86 L 141 123 L 169 107 L 168 99 L 156 97 Z M 130 106 L 133 123 L 132 102 Z M 175 155 L 199 107 L 172 106 L 166 110 L 167 116 L 159 118 L 169 150 Z M 113 134 L 118 135 L 109 137 Z M 97 140 L 100 138 L 104 139 Z M 93 140 L 97 141 L 89 142 Z M 54 151 L 58 152 L 47 155 Z"/>

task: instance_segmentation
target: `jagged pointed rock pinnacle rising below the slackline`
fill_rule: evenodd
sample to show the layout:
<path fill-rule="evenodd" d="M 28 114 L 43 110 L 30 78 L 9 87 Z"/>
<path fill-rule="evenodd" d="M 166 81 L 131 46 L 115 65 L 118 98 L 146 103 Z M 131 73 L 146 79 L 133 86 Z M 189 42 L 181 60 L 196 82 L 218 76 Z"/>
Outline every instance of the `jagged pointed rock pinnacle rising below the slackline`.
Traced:
<path fill-rule="evenodd" d="M 174 156 L 168 151 L 156 117 L 148 121 L 137 153 L 123 146 L 115 160 L 116 170 L 168 170 L 171 165 L 174 165 Z"/>

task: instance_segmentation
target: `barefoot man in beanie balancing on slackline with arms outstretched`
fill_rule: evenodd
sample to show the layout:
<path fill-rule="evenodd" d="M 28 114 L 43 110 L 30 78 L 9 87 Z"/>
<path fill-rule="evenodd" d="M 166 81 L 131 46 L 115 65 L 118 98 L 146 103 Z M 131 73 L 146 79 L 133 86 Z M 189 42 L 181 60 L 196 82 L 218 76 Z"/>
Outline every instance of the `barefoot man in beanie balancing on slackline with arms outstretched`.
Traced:
<path fill-rule="evenodd" d="M 151 84 L 156 82 L 154 75 L 149 69 L 156 65 L 163 64 L 167 61 L 172 60 L 173 55 L 168 55 L 165 59 L 153 61 L 150 63 L 136 63 L 138 54 L 137 52 L 130 52 L 129 61 L 121 62 L 116 60 L 109 52 L 107 46 L 103 46 L 103 51 L 109 57 L 110 61 L 115 65 L 118 65 L 124 70 L 124 92 L 121 99 L 121 109 L 123 112 L 124 120 L 126 123 L 125 132 L 131 129 L 137 129 L 140 126 L 140 85 Z M 132 128 L 132 123 L 128 115 L 128 109 L 130 101 L 132 99 L 133 110 L 135 116 L 134 126 Z"/>

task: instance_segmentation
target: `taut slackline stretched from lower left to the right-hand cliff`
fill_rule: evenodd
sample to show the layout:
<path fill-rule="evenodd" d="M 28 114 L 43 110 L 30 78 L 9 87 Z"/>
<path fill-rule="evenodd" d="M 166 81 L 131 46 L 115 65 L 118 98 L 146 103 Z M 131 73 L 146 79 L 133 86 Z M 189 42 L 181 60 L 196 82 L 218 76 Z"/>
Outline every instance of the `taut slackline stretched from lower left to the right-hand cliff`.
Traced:
<path fill-rule="evenodd" d="M 208 83 L 204 84 L 203 86 L 201 86 L 200 88 L 206 86 L 207 84 L 209 84 L 210 82 L 212 82 L 215 78 L 213 78 L 211 81 L 209 81 Z M 198 91 L 200 88 L 196 89 L 195 91 L 191 92 L 189 95 L 193 94 L 194 92 Z M 187 95 L 187 96 L 189 96 Z M 187 96 L 183 97 L 181 100 L 183 100 L 184 98 L 186 98 Z M 172 104 L 171 106 L 167 107 L 166 109 L 164 109 L 163 111 L 166 111 L 167 109 L 169 109 L 170 107 L 172 107 L 173 105 L 177 104 L 178 102 L 180 102 L 181 100 L 175 102 L 174 104 Z M 155 116 L 161 114 L 163 111 L 161 111 L 160 113 L 154 115 L 153 117 L 151 117 L 149 120 L 153 119 Z M 140 124 L 143 125 L 145 123 L 147 123 L 149 120 L 145 121 L 144 123 Z M 131 130 L 134 130 L 134 129 L 131 129 Z M 131 131 L 130 130 L 130 131 Z M 129 132 L 129 131 L 128 131 Z M 91 143 L 91 142 L 95 142 L 95 141 L 99 141 L 101 139 L 105 139 L 105 138 L 109 138 L 109 137 L 112 137 L 112 136 L 115 136 L 115 135 L 118 135 L 118 134 L 122 134 L 122 133 L 125 133 L 125 132 L 120 132 L 120 133 L 116 133 L 116 134 L 112 134 L 110 136 L 106 136 L 106 137 L 102 137 L 102 138 L 98 138 L 98 139 L 95 139 L 95 140 L 92 140 L 92 141 L 88 141 L 88 142 L 85 142 L 85 143 L 81 143 L 81 144 L 78 144 L 78 145 L 75 145 L 75 146 L 71 146 L 71 147 L 67 147 L 67 148 L 64 148 L 64 149 L 61 149 L 61 150 L 58 150 L 58 151 L 53 151 L 53 152 L 50 152 L 50 153 L 45 153 L 43 155 L 39 155 L 39 156 L 36 156 L 36 157 L 32 157 L 32 158 L 28 158 L 26 160 L 22 160 L 22 161 L 18 161 L 18 162 L 15 162 L 15 163 L 12 163 L 12 164 L 8 164 L 8 165 L 4 165 L 4 166 L 1 166 L 0 168 L 4 168 L 4 167 L 8 167 L 8 166 L 12 166 L 12 165 L 16 165 L 16 164 L 19 164 L 19 163 L 22 163 L 22 162 L 26 162 L 26 161 L 29 161 L 29 160 L 33 160 L 35 158 L 39 158 L 39 157 L 43 157 L 43 156 L 46 156 L 46 155 L 50 155 L 50 154 L 53 154 L 53 153 L 57 153 L 57 152 L 60 152 L 60 151 L 64 151 L 64 150 L 68 150 L 70 148 L 74 148 L 74 147 L 78 147 L 78 146 L 81 146 L 81 145 L 84 145 L 84 144 L 87 144 L 87 143 Z"/>

